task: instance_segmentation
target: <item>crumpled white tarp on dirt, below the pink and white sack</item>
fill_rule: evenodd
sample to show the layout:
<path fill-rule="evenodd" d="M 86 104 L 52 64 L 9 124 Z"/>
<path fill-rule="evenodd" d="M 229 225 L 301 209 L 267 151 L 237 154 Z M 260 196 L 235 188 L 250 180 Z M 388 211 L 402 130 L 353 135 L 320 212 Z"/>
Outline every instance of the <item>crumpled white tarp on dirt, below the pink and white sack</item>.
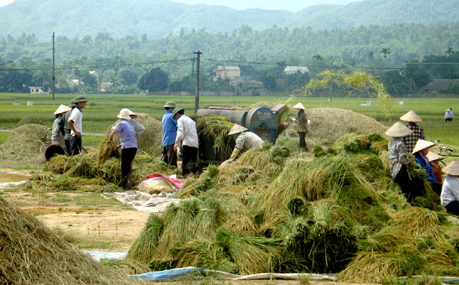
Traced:
<path fill-rule="evenodd" d="M 171 193 L 161 192 L 159 194 L 148 194 L 140 191 L 129 190 L 126 192 L 103 193 L 102 197 L 117 199 L 126 205 L 146 213 L 162 212 L 170 203 L 179 202 L 182 199 L 172 198 Z"/>

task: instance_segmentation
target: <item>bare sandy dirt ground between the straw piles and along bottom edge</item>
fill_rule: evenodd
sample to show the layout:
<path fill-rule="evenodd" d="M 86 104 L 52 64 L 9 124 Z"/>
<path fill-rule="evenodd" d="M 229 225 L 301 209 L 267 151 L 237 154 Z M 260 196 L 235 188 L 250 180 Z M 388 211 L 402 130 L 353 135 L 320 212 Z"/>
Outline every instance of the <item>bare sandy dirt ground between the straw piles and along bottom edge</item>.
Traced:
<path fill-rule="evenodd" d="M 0 169 L 0 172 L 19 172 L 9 176 L 0 173 L 0 182 L 8 179 L 21 181 L 37 170 Z M 102 252 L 127 252 L 147 222 L 150 213 L 136 211 L 120 202 L 104 199 L 95 193 L 76 193 L 61 191 L 56 193 L 33 193 L 15 189 L 0 189 L 0 195 L 8 202 L 19 206 L 35 215 L 51 229 L 61 229 L 66 234 L 77 238 L 81 250 Z M 305 280 L 247 280 L 230 281 L 218 279 L 185 279 L 177 282 L 154 282 L 167 285 L 351 285 L 330 281 Z"/>

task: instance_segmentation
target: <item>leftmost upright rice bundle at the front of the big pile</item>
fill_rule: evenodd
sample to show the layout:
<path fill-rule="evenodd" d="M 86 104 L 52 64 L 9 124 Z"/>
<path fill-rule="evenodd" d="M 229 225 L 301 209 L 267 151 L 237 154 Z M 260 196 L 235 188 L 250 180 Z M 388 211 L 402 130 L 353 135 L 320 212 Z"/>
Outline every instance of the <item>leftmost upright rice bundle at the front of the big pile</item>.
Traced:
<path fill-rule="evenodd" d="M 150 263 L 156 247 L 158 247 L 163 229 L 163 221 L 159 218 L 159 215 L 151 213 L 145 228 L 131 245 L 129 252 L 127 252 L 127 258 Z"/>

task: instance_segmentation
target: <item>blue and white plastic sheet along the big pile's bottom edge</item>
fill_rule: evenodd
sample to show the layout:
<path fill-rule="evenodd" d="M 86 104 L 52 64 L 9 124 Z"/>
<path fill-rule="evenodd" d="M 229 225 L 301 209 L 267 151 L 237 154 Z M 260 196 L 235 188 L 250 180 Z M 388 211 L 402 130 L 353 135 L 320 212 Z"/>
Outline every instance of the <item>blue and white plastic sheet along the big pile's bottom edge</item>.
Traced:
<path fill-rule="evenodd" d="M 171 270 L 163 270 L 158 272 L 148 272 L 138 275 L 129 275 L 131 277 L 142 278 L 155 281 L 172 281 L 177 279 L 188 278 L 190 275 L 203 275 L 226 280 L 259 280 L 259 279 L 291 279 L 298 280 L 301 276 L 310 276 L 311 280 L 328 279 L 335 280 L 336 278 L 330 274 L 300 274 L 300 273 L 260 273 L 254 275 L 237 275 L 228 272 L 209 270 L 206 268 L 186 267 L 175 268 Z"/>

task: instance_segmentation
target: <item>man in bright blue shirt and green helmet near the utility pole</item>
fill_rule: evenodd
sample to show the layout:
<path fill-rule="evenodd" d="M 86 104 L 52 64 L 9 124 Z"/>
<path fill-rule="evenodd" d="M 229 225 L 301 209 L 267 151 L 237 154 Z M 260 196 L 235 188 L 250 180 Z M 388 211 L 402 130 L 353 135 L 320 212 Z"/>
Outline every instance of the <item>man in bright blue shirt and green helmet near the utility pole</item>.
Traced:
<path fill-rule="evenodd" d="M 172 111 L 177 108 L 175 102 L 167 101 L 163 106 L 166 114 L 163 115 L 163 155 L 161 161 L 167 165 L 177 167 L 177 152 L 174 152 L 175 138 L 177 137 L 177 120 L 172 116 Z"/>

